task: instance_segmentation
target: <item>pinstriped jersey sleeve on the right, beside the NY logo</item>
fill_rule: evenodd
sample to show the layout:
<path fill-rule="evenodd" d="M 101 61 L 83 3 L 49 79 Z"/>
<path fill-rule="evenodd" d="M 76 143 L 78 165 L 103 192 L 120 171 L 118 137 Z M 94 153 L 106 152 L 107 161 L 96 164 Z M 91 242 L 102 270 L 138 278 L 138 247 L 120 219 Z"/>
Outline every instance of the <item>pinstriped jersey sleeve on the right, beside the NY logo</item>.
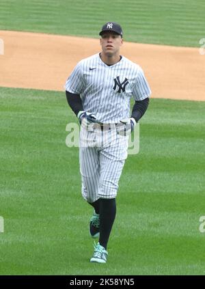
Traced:
<path fill-rule="evenodd" d="M 133 97 L 135 100 L 143 100 L 150 97 L 151 90 L 148 81 L 144 76 L 143 70 L 139 67 L 135 85 L 133 86 Z"/>

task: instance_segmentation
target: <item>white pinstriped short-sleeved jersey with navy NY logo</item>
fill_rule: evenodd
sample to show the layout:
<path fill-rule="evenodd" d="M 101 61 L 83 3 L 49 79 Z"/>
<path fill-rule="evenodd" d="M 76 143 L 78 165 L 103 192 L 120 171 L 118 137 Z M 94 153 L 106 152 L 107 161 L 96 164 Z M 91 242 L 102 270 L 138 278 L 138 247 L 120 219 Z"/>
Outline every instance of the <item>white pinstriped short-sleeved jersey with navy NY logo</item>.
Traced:
<path fill-rule="evenodd" d="M 150 97 L 141 67 L 126 57 L 108 66 L 99 53 L 79 61 L 66 81 L 66 91 L 80 94 L 83 110 L 100 122 L 118 123 L 130 117 L 130 101 Z"/>

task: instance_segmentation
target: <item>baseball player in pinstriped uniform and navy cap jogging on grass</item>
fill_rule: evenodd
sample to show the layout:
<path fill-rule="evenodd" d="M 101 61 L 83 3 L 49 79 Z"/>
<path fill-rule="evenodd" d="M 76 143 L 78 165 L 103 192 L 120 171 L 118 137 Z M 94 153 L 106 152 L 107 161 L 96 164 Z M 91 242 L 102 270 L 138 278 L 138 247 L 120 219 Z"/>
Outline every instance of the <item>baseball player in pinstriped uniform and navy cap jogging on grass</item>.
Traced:
<path fill-rule="evenodd" d="M 105 263 L 128 134 L 146 112 L 151 91 L 141 67 L 120 55 L 120 25 L 106 23 L 99 35 L 101 52 L 79 61 L 66 81 L 66 97 L 81 124 L 82 195 L 94 207 L 90 235 L 99 238 L 90 262 Z"/>

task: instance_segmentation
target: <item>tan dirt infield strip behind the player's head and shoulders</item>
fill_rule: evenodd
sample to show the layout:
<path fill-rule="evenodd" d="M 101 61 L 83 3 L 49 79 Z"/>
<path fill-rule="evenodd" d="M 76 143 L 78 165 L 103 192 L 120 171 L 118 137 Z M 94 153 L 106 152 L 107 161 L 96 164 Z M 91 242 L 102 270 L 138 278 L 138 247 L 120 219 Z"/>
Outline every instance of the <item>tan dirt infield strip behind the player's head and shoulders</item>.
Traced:
<path fill-rule="evenodd" d="M 99 40 L 0 31 L 0 86 L 64 90 L 77 61 L 100 51 Z M 124 42 L 122 55 L 139 64 L 152 97 L 205 100 L 205 55 L 199 49 Z"/>

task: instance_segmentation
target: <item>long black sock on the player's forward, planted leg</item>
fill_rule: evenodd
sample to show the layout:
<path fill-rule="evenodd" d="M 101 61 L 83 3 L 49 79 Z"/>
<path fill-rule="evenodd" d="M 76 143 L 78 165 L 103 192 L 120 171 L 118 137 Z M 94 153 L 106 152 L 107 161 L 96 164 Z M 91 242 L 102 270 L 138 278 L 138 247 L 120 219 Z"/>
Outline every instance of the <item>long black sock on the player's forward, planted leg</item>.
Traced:
<path fill-rule="evenodd" d="M 100 239 L 101 246 L 107 249 L 109 235 L 115 221 L 116 202 L 115 199 L 100 199 Z"/>

